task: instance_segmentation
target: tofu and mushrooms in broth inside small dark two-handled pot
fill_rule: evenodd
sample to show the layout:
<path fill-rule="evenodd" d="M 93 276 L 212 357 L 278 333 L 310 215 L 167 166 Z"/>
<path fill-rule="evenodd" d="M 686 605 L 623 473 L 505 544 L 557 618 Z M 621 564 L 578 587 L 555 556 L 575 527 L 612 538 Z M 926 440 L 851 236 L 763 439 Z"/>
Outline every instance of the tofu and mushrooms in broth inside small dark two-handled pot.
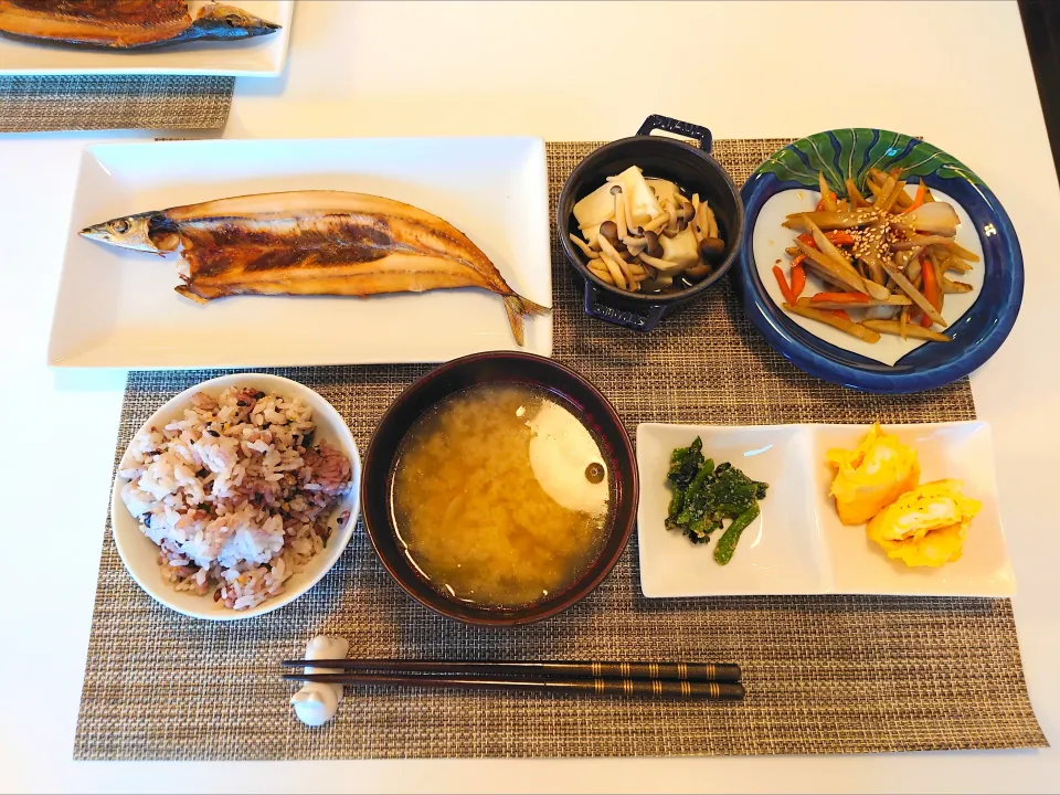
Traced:
<path fill-rule="evenodd" d="M 706 199 L 636 166 L 608 177 L 574 205 L 571 242 L 593 274 L 629 293 L 677 293 L 724 259 L 725 242 Z"/>

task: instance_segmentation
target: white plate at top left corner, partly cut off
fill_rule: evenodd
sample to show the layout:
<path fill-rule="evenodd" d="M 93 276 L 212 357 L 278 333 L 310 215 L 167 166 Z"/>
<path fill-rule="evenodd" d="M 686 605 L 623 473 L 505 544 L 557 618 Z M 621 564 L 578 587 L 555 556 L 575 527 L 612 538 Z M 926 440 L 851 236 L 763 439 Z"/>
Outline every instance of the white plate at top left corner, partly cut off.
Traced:
<path fill-rule="evenodd" d="M 189 3 L 194 17 L 205 3 Z M 255 17 L 280 25 L 246 41 L 199 41 L 158 50 L 87 50 L 0 38 L 0 75 L 231 75 L 278 77 L 287 60 L 294 0 L 233 0 Z"/>

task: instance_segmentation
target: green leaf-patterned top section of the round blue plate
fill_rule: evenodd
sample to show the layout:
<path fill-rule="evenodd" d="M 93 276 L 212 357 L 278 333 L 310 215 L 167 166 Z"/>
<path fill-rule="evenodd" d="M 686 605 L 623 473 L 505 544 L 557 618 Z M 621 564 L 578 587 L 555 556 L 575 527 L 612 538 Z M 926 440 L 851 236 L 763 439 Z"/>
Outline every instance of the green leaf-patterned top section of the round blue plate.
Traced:
<path fill-rule="evenodd" d="M 829 187 L 839 195 L 846 195 L 844 183 L 848 177 L 865 191 L 869 169 L 887 171 L 895 166 L 902 170 L 903 179 L 934 176 L 983 184 L 983 180 L 964 163 L 931 144 L 901 132 L 865 127 L 802 138 L 774 153 L 757 171 L 806 188 L 817 187 L 817 172 L 822 171 Z"/>

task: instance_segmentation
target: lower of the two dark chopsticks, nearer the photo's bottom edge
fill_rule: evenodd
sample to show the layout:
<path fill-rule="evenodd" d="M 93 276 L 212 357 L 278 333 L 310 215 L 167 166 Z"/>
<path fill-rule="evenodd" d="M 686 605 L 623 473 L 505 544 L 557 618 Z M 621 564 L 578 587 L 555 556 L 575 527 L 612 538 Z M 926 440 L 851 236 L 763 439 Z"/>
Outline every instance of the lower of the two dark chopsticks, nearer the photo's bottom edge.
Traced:
<path fill-rule="evenodd" d="M 311 660 L 314 665 L 324 660 Z M 329 685 L 383 685 L 451 690 L 531 690 L 596 696 L 665 698 L 681 701 L 739 701 L 740 682 L 661 681 L 659 679 L 520 679 L 517 677 L 464 678 L 425 674 L 285 674 L 287 681 Z"/>

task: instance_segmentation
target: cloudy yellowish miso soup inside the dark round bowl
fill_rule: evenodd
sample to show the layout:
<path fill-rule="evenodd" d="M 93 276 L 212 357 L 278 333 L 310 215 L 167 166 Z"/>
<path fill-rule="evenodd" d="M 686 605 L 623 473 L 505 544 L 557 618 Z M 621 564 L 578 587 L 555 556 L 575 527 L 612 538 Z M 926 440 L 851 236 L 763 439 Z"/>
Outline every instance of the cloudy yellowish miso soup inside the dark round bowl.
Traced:
<path fill-rule="evenodd" d="M 412 562 L 438 591 L 513 607 L 568 589 L 607 537 L 614 478 L 590 430 L 552 393 L 473 386 L 420 417 L 398 453 L 391 505 Z"/>

